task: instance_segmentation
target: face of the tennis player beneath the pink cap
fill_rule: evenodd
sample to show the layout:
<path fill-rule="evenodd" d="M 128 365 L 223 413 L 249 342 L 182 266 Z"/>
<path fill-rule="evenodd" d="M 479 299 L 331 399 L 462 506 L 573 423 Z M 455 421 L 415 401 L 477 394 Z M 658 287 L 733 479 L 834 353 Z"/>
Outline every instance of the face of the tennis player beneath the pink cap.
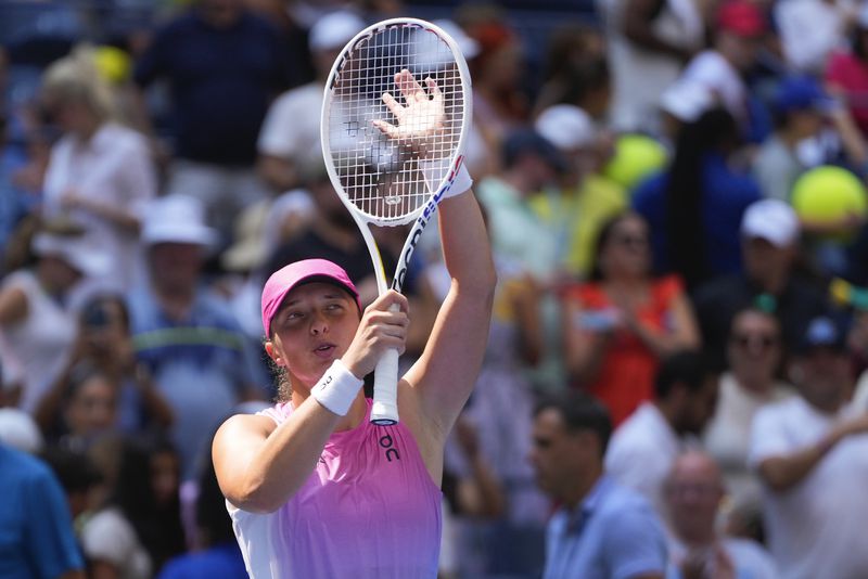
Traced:
<path fill-rule="evenodd" d="M 310 388 L 341 358 L 359 325 L 353 297 L 329 283 L 299 285 L 271 319 L 271 359 L 290 373 L 293 387 Z"/>

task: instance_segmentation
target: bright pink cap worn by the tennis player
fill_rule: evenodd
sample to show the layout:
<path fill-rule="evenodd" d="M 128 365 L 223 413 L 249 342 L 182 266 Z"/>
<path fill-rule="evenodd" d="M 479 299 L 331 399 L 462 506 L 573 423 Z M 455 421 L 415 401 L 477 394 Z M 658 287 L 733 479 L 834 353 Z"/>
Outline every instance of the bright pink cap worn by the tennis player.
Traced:
<path fill-rule="evenodd" d="M 311 282 L 332 283 L 345 290 L 356 298 L 356 305 L 361 311 L 359 292 L 343 268 L 327 259 L 295 261 L 272 273 L 263 287 L 263 329 L 266 336 L 270 334 L 271 318 L 277 313 L 286 294 L 298 285 Z"/>

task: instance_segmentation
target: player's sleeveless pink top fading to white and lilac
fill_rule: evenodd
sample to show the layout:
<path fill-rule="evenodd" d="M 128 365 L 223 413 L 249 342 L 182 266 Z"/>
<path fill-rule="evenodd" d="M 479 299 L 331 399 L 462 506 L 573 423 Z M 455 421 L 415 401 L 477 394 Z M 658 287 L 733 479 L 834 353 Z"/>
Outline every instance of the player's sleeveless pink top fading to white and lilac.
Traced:
<path fill-rule="evenodd" d="M 404 424 L 368 415 L 333 433 L 302 489 L 273 513 L 227 502 L 247 572 L 255 579 L 434 579 L 441 544 L 439 489 Z M 290 403 L 259 414 L 278 424 Z"/>

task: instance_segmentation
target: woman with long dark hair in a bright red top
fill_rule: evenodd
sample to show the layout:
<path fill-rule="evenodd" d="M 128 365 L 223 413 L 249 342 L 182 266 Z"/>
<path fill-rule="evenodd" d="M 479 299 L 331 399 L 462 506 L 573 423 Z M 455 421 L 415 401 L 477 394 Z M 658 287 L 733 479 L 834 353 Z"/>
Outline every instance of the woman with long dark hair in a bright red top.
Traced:
<path fill-rule="evenodd" d="M 660 358 L 699 346 L 682 283 L 651 274 L 648 226 L 634 213 L 601 229 L 590 280 L 569 287 L 563 301 L 572 385 L 599 398 L 614 424 L 653 397 Z"/>

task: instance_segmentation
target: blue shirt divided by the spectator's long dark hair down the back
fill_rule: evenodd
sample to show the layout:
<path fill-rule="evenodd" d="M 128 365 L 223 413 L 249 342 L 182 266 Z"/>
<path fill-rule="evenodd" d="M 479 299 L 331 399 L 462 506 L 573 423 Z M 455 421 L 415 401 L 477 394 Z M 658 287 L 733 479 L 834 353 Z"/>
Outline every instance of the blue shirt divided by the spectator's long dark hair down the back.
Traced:
<path fill-rule="evenodd" d="M 634 209 L 648 221 L 654 270 L 659 273 L 672 272 L 666 241 L 667 185 L 668 173 L 663 172 L 643 181 L 633 195 Z M 701 194 L 700 215 L 709 274 L 740 273 L 741 217 L 750 204 L 760 201 L 760 186 L 746 175 L 732 171 L 722 155 L 707 154 L 702 160 Z"/>

